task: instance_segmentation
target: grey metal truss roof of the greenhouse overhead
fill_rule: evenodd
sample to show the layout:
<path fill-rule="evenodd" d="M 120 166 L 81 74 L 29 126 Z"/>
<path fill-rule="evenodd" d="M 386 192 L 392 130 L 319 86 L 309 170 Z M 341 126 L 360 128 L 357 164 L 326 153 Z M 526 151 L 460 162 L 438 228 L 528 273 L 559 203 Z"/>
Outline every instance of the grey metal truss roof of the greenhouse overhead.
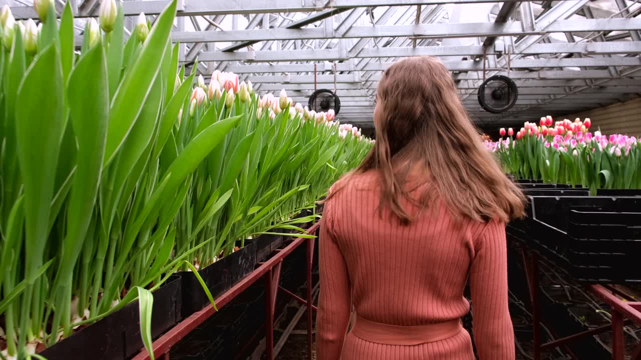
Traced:
<path fill-rule="evenodd" d="M 3 1 L 17 19 L 37 16 L 32 0 Z M 72 8 L 92 17 L 99 2 L 74 0 Z M 125 0 L 126 24 L 166 4 Z M 383 70 L 437 56 L 470 117 L 499 127 L 638 97 L 640 14 L 641 0 L 181 0 L 172 40 L 188 72 L 237 72 L 261 94 L 285 88 L 305 103 L 315 88 L 336 89 L 340 120 L 363 127 L 372 126 Z M 508 113 L 486 113 L 476 100 L 494 74 L 519 86 Z"/>

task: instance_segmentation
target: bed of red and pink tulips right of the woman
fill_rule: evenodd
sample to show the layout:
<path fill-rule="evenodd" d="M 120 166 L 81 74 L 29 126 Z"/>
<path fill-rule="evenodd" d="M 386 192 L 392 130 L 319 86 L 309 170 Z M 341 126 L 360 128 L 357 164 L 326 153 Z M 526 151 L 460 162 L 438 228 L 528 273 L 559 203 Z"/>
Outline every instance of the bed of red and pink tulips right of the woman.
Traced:
<path fill-rule="evenodd" d="M 501 129 L 501 140 L 485 141 L 508 174 L 517 179 L 598 188 L 641 189 L 640 139 L 590 132 L 591 120 L 526 122 L 514 135 Z M 508 136 L 504 138 L 503 136 Z"/>

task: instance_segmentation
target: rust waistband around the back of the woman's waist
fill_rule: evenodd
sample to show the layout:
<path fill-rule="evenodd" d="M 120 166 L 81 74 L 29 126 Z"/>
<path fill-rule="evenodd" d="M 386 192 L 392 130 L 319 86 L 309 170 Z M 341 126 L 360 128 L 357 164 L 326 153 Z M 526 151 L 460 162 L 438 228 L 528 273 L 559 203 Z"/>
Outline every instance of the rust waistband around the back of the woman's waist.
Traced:
<path fill-rule="evenodd" d="M 463 330 L 459 319 L 429 325 L 399 326 L 372 322 L 356 315 L 351 332 L 365 341 L 385 345 L 419 345 L 440 341 Z"/>

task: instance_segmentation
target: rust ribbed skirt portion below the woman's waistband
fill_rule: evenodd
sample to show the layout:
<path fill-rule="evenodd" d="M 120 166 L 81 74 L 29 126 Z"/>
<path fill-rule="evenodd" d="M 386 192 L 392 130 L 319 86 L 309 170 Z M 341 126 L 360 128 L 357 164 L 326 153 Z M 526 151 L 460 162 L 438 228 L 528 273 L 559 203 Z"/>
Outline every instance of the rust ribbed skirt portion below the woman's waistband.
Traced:
<path fill-rule="evenodd" d="M 465 329 L 445 340 L 412 346 L 372 343 L 349 332 L 340 360 L 474 360 L 474 350 Z"/>

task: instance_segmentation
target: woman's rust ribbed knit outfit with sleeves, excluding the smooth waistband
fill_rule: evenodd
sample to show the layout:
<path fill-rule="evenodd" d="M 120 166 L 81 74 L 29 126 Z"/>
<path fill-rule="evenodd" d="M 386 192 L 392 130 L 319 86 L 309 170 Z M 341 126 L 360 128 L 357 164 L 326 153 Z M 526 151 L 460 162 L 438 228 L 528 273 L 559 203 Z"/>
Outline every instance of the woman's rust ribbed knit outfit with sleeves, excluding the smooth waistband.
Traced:
<path fill-rule="evenodd" d="M 420 345 L 386 345 L 345 335 L 352 306 L 358 316 L 389 325 L 461 318 L 469 311 L 463 297 L 468 278 L 479 360 L 514 359 L 504 224 L 457 223 L 440 202 L 407 226 L 385 211 L 380 218 L 374 172 L 334 188 L 337 193 L 326 203 L 320 225 L 318 360 L 474 359 L 465 330 Z"/>

